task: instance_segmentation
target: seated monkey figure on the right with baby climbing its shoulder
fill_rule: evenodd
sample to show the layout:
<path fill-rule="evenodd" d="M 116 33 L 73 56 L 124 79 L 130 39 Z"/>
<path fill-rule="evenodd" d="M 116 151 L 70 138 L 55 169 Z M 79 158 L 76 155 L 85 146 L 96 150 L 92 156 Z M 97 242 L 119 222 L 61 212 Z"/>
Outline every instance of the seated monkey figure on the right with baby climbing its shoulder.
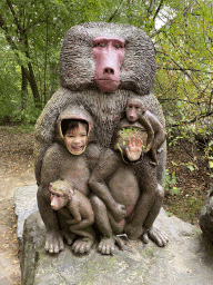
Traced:
<path fill-rule="evenodd" d="M 153 150 L 159 149 L 165 140 L 165 132 L 151 112 L 149 112 L 148 119 L 144 117 L 139 99 L 128 99 L 125 115 L 126 118 L 119 122 L 118 129 L 120 130 L 120 128 L 124 127 L 144 128 L 148 132 L 146 141 L 149 141 L 145 150 L 148 151 L 150 148 Z M 154 130 L 156 136 L 154 136 Z M 112 145 L 115 145 L 115 149 L 118 140 L 116 134 L 115 142 L 112 142 Z M 161 208 L 163 188 L 158 184 L 155 168 L 152 166 L 153 161 L 150 159 L 150 154 L 143 154 L 142 151 L 143 158 L 140 159 L 140 151 L 139 157 L 135 158 L 136 167 L 134 173 L 136 173 L 139 186 L 135 185 L 134 177 L 131 177 L 126 171 L 126 163 L 132 160 L 130 159 L 129 149 L 132 149 L 134 145 L 136 142 L 133 137 L 133 140 L 129 139 L 128 147 L 118 147 L 121 154 L 112 149 L 106 149 L 105 153 L 102 153 L 89 179 L 89 186 L 92 193 L 97 195 L 91 197 L 91 203 L 97 226 L 103 236 L 98 247 L 102 254 L 112 253 L 114 243 L 123 247 L 122 240 L 114 234 L 121 235 L 124 232 L 131 239 L 143 235 L 143 239 L 148 240 L 146 232 L 152 228 Z M 140 148 L 140 145 L 138 146 Z M 130 167 L 128 167 L 129 169 Z M 135 209 L 133 214 L 136 204 L 138 210 Z M 124 214 L 125 216 L 123 216 Z M 138 225 L 142 225 L 142 227 L 138 227 Z"/>

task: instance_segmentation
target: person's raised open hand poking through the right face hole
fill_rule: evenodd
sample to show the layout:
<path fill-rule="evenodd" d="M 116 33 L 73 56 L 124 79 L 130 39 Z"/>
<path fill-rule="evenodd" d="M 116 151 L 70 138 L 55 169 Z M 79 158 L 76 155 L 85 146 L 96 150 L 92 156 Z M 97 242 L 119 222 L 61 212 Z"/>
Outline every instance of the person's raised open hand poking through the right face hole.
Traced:
<path fill-rule="evenodd" d="M 128 147 L 125 148 L 126 156 L 131 161 L 135 161 L 141 157 L 143 141 L 135 136 L 128 139 Z"/>

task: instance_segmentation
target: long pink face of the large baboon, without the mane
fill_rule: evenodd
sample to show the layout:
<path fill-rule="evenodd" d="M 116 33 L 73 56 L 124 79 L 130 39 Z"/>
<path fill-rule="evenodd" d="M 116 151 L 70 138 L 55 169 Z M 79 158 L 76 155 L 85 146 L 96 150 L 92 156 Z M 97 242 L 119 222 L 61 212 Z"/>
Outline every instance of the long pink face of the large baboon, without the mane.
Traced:
<path fill-rule="evenodd" d="M 97 37 L 92 40 L 95 62 L 95 82 L 104 92 L 113 92 L 120 86 L 125 41 L 120 38 Z"/>

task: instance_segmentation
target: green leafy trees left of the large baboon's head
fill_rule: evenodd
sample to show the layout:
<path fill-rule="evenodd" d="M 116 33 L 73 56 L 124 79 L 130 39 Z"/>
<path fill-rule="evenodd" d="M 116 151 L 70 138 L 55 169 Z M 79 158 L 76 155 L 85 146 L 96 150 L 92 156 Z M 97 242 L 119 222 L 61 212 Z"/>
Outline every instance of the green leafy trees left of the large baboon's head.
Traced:
<path fill-rule="evenodd" d="M 94 0 L 3 0 L 0 9 L 3 11 L 0 14 L 3 42 L 0 55 L 2 57 L 6 53 L 10 55 L 10 60 L 16 67 L 9 73 L 16 85 L 13 97 L 20 115 L 24 114 L 29 105 L 32 108 L 43 107 L 58 89 L 60 42 L 67 30 L 84 21 L 105 20 L 112 14 L 109 10 L 115 10 L 111 1 Z M 2 81 L 6 76 L 9 78 L 6 68 L 2 68 Z M 6 101 L 9 104 L 8 98 L 10 98 L 7 96 L 9 89 L 6 89 L 1 94 L 1 104 L 7 110 L 13 109 L 12 104 L 6 105 Z M 17 118 L 14 111 L 11 116 Z M 1 118 L 3 117 L 4 114 L 1 111 Z"/>

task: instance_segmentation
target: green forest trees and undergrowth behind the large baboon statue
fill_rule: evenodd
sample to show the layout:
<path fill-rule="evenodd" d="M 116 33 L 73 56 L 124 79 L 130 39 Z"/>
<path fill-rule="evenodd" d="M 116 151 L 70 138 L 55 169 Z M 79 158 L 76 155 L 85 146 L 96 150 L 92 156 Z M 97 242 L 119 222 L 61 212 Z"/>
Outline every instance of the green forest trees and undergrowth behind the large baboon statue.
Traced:
<path fill-rule="evenodd" d="M 131 23 L 154 42 L 158 70 L 153 91 L 168 130 L 168 204 L 172 204 L 172 213 L 180 214 L 175 203 L 181 203 L 183 213 L 191 207 L 197 214 L 206 193 L 196 186 L 191 195 L 185 193 L 181 174 L 194 184 L 196 178 L 205 180 L 205 189 L 213 177 L 212 0 L 1 1 L 0 125 L 32 129 L 59 88 L 58 63 L 65 32 L 89 21 Z"/>

